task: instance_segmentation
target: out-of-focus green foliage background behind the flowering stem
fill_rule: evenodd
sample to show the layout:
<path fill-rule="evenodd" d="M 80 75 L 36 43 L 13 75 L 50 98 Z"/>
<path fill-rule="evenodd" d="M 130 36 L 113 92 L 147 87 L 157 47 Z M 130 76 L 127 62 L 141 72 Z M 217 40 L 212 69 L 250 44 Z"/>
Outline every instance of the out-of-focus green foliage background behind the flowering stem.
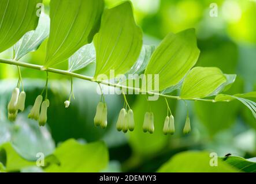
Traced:
<path fill-rule="evenodd" d="M 106 6 L 113 7 L 118 2 L 121 1 L 106 0 Z M 216 0 L 214 3 L 218 5 L 218 16 L 210 17 L 212 2 L 132 1 L 136 22 L 144 32 L 145 44 L 158 45 L 169 32 L 177 33 L 195 28 L 198 47 L 201 49 L 197 65 L 216 66 L 225 74 L 238 74 L 238 79 L 228 94 L 256 90 L 256 1 Z M 49 1 L 44 1 L 44 4 L 46 11 L 49 11 Z M 46 43 L 47 40 L 38 51 L 24 56 L 21 61 L 42 65 L 46 55 Z M 12 49 L 1 53 L 0 57 L 11 58 Z M 68 62 L 55 67 L 66 70 Z M 93 75 L 94 70 L 95 64 L 91 64 L 79 73 Z M 22 68 L 21 72 L 29 109 L 43 89 L 46 75 L 42 71 L 27 68 Z M 106 130 L 101 130 L 93 124 L 96 106 L 101 98 L 95 91 L 97 85 L 75 80 L 76 99 L 72 101 L 69 109 L 65 109 L 64 101 L 69 95 L 69 78 L 50 74 L 49 119 L 46 128 L 39 128 L 36 122 L 26 118 L 28 110 L 19 114 L 15 124 L 6 119 L 6 104 L 17 79 L 16 67 L 0 64 L 0 145 L 12 143 L 16 152 L 27 160 L 34 160 L 37 152 L 50 155 L 55 147 L 71 138 L 79 140 L 80 143 L 102 140 L 107 145 L 107 167 L 95 171 L 154 172 L 173 155 L 191 150 L 216 152 L 218 156 L 228 153 L 244 158 L 256 156 L 256 122 L 251 112 L 237 101 L 218 104 L 190 102 L 188 106 L 192 132 L 189 135 L 182 133 L 186 114 L 184 103 L 170 101 L 175 114 L 176 133 L 165 136 L 162 133 L 166 116 L 164 99 L 150 102 L 155 117 L 155 133 L 149 135 L 142 131 L 144 113 L 148 110 L 146 98 L 128 95 L 128 102 L 135 113 L 136 127 L 134 132 L 124 135 L 116 131 L 117 115 L 123 106 L 121 96 L 106 96 L 109 126 Z M 17 169 L 23 168 L 21 166 L 17 166 Z M 52 168 L 52 171 L 58 170 Z"/>

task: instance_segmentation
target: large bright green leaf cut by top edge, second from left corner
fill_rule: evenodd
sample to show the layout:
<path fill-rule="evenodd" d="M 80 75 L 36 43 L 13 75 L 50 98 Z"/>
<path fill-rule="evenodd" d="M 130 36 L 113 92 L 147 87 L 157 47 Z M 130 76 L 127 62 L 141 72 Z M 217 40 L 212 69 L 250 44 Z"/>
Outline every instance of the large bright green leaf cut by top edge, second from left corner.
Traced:
<path fill-rule="evenodd" d="M 103 5 L 102 0 L 50 2 L 51 29 L 45 68 L 63 62 L 92 41 L 98 31 Z"/>

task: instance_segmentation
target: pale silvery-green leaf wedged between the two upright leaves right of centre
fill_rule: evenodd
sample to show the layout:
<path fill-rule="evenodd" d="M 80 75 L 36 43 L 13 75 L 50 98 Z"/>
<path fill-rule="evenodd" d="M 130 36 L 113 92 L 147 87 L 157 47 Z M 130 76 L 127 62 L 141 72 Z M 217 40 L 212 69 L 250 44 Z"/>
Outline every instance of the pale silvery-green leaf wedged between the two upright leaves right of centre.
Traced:
<path fill-rule="evenodd" d="M 155 50 L 153 45 L 143 45 L 139 58 L 127 74 L 141 74 L 149 64 L 150 57 Z"/>

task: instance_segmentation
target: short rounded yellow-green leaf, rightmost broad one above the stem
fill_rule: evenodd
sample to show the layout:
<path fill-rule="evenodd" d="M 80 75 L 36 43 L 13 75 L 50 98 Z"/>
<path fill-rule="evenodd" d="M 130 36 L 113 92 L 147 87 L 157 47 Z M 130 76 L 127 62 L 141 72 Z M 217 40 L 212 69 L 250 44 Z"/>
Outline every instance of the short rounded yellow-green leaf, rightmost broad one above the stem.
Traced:
<path fill-rule="evenodd" d="M 211 95 L 223 83 L 225 75 L 216 67 L 195 67 L 184 79 L 181 87 L 181 98 L 204 98 Z"/>

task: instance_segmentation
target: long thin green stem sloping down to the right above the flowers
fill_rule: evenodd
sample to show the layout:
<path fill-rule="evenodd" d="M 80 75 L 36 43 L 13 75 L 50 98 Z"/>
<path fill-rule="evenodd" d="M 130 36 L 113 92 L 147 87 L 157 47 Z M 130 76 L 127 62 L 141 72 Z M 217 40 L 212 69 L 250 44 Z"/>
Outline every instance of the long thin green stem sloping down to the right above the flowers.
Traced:
<path fill-rule="evenodd" d="M 34 69 L 34 70 L 40 70 L 40 71 L 46 71 L 46 72 L 51 72 L 51 73 L 55 73 L 55 74 L 71 76 L 71 77 L 74 77 L 74 78 L 79 78 L 79 79 L 83 79 L 83 80 L 86 80 L 86 81 L 96 82 L 96 83 L 106 85 L 106 86 L 118 87 L 118 88 L 123 88 L 123 89 L 127 89 L 127 90 L 138 91 L 139 93 L 146 93 L 146 94 L 149 94 L 149 95 L 159 95 L 161 97 L 173 98 L 173 99 L 177 99 L 177 100 L 182 99 L 178 96 L 155 93 L 155 92 L 151 92 L 151 91 L 143 91 L 139 88 L 123 86 L 123 85 L 119 85 L 119 84 L 115 84 L 115 83 L 110 83 L 108 81 L 94 81 L 91 76 L 76 74 L 76 73 L 73 73 L 73 72 L 70 72 L 70 71 L 59 70 L 59 69 L 55 69 L 55 68 L 44 68 L 43 66 L 40 66 L 40 65 L 37 65 L 37 64 L 18 62 L 16 60 L 12 60 L 12 59 L 2 59 L 2 58 L 0 58 L 0 63 L 12 64 L 12 65 L 15 65 L 15 66 L 31 68 L 31 69 Z M 197 99 L 197 98 L 196 99 L 188 99 L 188 100 L 190 100 L 190 101 L 216 102 L 216 101 L 214 101 L 214 99 L 201 99 L 201 98 L 199 98 L 199 99 Z"/>

